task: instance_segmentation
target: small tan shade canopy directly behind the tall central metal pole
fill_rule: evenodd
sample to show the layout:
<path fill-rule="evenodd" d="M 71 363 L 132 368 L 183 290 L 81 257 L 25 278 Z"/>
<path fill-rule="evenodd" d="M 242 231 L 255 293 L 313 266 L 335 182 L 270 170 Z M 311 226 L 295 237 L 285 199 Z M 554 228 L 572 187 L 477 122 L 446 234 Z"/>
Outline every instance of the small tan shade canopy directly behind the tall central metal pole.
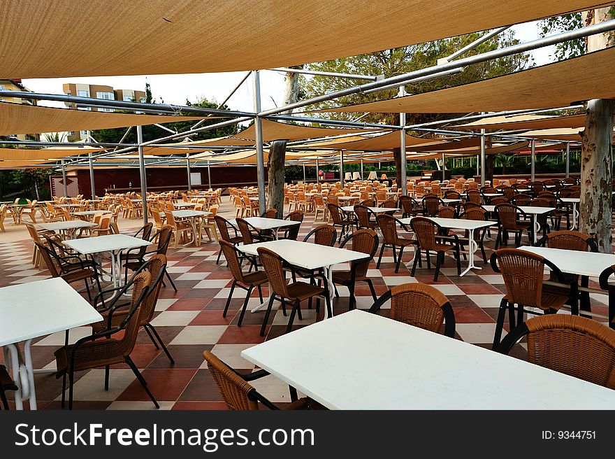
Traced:
<path fill-rule="evenodd" d="M 261 120 L 263 126 L 263 141 L 274 140 L 305 140 L 318 139 L 319 137 L 340 136 L 344 134 L 366 134 L 378 132 L 377 129 L 335 129 L 332 127 L 310 127 L 289 125 L 284 122 Z M 243 129 L 242 132 L 233 135 L 237 139 L 256 140 L 256 129 L 254 125 Z"/>

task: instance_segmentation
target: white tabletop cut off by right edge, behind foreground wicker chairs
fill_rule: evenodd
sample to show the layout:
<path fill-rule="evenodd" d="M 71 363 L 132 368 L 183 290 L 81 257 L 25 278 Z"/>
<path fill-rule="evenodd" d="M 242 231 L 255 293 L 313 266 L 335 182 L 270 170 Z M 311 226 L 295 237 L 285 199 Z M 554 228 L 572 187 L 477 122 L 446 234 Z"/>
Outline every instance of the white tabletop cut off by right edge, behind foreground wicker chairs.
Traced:
<path fill-rule="evenodd" d="M 599 277 L 600 273 L 615 264 L 615 255 L 600 252 L 580 252 L 549 247 L 519 247 L 519 250 L 547 258 L 560 271 L 579 276 Z"/>

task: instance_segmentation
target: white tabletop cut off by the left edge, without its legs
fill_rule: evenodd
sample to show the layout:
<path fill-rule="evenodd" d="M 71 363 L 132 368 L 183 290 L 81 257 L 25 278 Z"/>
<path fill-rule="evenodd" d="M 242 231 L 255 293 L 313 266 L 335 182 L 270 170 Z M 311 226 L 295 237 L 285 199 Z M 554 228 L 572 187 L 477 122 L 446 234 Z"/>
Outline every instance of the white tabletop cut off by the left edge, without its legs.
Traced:
<path fill-rule="evenodd" d="M 0 288 L 0 346 L 103 320 L 62 278 Z"/>

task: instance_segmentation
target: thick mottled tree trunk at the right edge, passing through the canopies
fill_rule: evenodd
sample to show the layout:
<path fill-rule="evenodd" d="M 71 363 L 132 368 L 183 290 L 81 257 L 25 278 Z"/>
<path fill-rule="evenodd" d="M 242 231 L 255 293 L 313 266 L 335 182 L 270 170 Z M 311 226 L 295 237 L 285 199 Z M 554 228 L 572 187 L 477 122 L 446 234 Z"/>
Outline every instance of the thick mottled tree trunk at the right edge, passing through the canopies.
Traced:
<path fill-rule="evenodd" d="M 609 8 L 583 13 L 585 25 L 613 19 Z M 588 52 L 614 44 L 612 33 L 589 36 Z M 581 156 L 581 202 L 579 231 L 595 236 L 600 252 L 612 253 L 612 132 L 613 102 L 608 99 L 588 101 Z"/>

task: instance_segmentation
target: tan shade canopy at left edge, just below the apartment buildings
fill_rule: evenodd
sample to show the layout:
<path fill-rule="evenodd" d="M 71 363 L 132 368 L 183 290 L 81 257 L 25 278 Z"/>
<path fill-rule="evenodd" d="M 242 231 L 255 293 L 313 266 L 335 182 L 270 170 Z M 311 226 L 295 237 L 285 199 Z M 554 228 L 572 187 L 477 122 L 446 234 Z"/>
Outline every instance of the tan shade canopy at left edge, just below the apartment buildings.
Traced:
<path fill-rule="evenodd" d="M 0 24 L 2 19 L 0 18 Z M 0 32 L 1 33 L 1 32 Z M 1 47 L 1 44 L 0 44 Z M 0 102 L 0 136 L 86 131 L 201 120 L 195 116 L 134 115 Z"/>

